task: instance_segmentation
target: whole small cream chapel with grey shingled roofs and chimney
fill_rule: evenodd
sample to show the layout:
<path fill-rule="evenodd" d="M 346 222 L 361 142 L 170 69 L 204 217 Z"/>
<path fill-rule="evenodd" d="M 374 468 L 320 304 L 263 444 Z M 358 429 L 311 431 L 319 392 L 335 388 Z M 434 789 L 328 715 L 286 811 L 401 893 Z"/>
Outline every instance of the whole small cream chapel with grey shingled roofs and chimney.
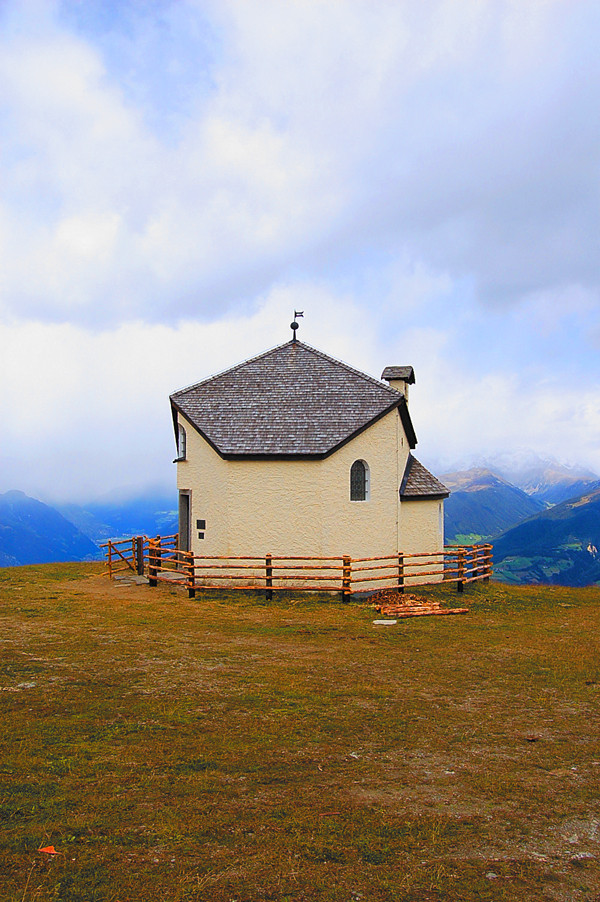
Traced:
<path fill-rule="evenodd" d="M 292 340 L 171 395 L 180 547 L 197 555 L 442 551 L 449 492 L 412 454 L 412 367 L 379 381 Z"/>

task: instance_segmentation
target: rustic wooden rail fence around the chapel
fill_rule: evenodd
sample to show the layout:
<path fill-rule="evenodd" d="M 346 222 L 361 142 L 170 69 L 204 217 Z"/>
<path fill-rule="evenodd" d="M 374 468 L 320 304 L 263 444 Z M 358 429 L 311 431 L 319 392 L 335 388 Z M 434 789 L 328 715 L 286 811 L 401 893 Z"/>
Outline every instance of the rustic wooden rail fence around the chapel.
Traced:
<path fill-rule="evenodd" d="M 440 552 L 396 554 L 388 557 L 217 557 L 181 551 L 178 537 L 134 536 L 108 541 L 109 576 L 123 571 L 148 577 L 151 586 L 168 582 L 188 590 L 262 590 L 340 592 L 344 598 L 377 589 L 403 592 L 413 586 L 455 582 L 457 590 L 492 575 L 492 546 L 447 545 Z"/>

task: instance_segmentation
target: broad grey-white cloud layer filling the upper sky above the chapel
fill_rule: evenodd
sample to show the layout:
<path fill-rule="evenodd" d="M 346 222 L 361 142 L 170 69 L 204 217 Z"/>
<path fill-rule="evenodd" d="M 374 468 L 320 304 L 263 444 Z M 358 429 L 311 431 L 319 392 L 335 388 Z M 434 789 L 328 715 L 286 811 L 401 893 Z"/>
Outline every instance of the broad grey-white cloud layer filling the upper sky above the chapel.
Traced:
<path fill-rule="evenodd" d="M 75 33 L 52 4 L 41 24 L 8 8 L 11 315 L 214 315 L 377 246 L 470 273 L 487 298 L 597 288 L 588 4 L 163 3 L 182 46 L 182 21 L 211 19 L 221 40 L 195 80 L 185 47 L 176 132 L 148 119 L 150 89 L 131 90 L 147 65 L 120 70 L 106 35 Z M 124 9 L 141 46 L 160 46 Z"/>

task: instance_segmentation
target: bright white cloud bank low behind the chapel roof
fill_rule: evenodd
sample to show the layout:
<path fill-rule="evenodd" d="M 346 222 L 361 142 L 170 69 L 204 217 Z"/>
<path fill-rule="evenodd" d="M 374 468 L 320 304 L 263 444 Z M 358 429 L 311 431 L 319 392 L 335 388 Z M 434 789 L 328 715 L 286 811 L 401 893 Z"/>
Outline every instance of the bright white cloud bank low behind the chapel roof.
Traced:
<path fill-rule="evenodd" d="M 422 274 L 412 288 L 425 297 Z M 0 327 L 0 491 L 82 500 L 123 486 L 174 490 L 168 395 L 287 341 L 294 309 L 305 311 L 304 341 L 375 377 L 388 364 L 415 366 L 416 453 L 440 472 L 523 446 L 600 470 L 593 389 L 565 387 L 561 373 L 533 384 L 507 370 L 467 374 L 447 331 L 417 326 L 382 343 L 385 310 L 365 318 L 323 283 L 288 283 L 257 309 L 209 324 Z"/>

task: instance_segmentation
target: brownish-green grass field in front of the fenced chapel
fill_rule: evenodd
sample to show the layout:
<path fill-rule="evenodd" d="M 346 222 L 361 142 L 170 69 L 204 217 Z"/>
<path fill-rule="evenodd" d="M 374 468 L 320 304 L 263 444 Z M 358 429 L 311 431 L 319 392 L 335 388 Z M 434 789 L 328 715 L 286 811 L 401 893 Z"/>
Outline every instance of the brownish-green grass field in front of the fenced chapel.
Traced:
<path fill-rule="evenodd" d="M 0 570 L 2 900 L 600 900 L 600 589 L 100 573 Z"/>

